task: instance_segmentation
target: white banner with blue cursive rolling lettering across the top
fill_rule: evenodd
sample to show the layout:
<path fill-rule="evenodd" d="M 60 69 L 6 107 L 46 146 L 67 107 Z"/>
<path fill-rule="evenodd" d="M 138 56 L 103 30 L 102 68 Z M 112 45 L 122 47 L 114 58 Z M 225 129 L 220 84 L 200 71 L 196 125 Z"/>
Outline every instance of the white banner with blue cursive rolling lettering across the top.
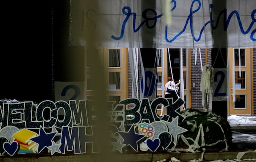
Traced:
<path fill-rule="evenodd" d="M 96 33 L 103 47 L 256 47 L 255 23 L 255 0 L 70 0 L 69 43 Z"/>

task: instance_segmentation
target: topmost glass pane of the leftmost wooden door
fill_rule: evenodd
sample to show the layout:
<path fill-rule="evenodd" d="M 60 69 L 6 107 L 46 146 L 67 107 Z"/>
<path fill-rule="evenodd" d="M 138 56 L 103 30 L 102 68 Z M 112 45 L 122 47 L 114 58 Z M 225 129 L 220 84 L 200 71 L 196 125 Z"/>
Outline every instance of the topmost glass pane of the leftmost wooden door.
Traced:
<path fill-rule="evenodd" d="M 108 49 L 108 66 L 120 67 L 120 49 Z"/>

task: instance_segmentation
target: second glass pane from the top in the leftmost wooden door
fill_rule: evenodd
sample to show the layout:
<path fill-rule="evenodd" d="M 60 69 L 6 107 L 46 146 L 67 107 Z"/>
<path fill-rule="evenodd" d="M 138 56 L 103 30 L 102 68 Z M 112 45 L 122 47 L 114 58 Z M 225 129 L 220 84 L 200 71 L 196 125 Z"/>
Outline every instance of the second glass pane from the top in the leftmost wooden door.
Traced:
<path fill-rule="evenodd" d="M 120 76 L 121 72 L 120 71 L 109 71 L 108 73 L 108 78 L 109 78 L 109 87 L 108 89 L 111 90 L 120 90 L 121 85 L 120 85 Z"/>

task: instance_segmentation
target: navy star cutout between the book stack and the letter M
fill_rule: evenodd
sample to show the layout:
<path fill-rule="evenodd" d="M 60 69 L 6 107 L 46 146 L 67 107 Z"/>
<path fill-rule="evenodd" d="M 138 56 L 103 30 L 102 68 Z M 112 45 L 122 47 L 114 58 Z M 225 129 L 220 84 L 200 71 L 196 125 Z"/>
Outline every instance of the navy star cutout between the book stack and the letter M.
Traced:
<path fill-rule="evenodd" d="M 42 126 L 40 126 L 39 136 L 32 138 L 31 140 L 38 144 L 38 153 L 40 153 L 45 147 L 52 145 L 52 139 L 56 132 L 47 134 Z"/>

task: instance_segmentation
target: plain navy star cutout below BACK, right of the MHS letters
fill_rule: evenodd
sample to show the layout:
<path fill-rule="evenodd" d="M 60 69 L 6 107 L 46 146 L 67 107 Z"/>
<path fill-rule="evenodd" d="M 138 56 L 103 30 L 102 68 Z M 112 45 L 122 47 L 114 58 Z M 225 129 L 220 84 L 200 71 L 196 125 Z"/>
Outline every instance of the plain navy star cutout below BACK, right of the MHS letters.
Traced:
<path fill-rule="evenodd" d="M 128 132 L 119 132 L 120 136 L 124 139 L 124 144 L 130 145 L 135 151 L 138 151 L 138 141 L 143 139 L 145 135 L 136 134 L 134 125 L 131 126 Z"/>

